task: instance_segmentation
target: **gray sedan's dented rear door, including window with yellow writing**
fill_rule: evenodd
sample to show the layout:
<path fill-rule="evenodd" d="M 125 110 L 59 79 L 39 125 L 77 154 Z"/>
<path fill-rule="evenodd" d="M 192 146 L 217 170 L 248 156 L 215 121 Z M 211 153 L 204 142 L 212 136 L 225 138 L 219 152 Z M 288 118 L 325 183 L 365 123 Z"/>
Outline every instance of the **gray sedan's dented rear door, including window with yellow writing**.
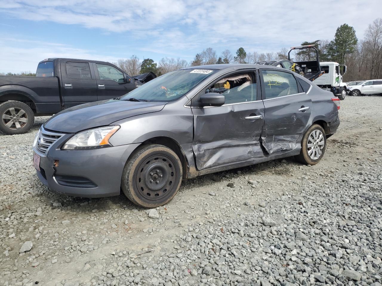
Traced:
<path fill-rule="evenodd" d="M 268 154 L 294 149 L 312 112 L 312 100 L 291 72 L 261 70 L 265 122 L 261 135 Z"/>

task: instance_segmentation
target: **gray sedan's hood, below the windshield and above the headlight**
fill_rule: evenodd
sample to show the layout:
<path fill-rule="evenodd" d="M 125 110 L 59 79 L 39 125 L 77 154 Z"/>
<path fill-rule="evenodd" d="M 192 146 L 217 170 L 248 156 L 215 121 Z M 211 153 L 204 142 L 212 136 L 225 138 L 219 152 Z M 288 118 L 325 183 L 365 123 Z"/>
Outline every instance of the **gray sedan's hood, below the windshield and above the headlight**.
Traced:
<path fill-rule="evenodd" d="M 131 116 L 158 112 L 165 105 L 166 102 L 95 101 L 57 113 L 45 122 L 44 128 L 57 132 L 76 133 L 85 129 L 109 125 Z"/>

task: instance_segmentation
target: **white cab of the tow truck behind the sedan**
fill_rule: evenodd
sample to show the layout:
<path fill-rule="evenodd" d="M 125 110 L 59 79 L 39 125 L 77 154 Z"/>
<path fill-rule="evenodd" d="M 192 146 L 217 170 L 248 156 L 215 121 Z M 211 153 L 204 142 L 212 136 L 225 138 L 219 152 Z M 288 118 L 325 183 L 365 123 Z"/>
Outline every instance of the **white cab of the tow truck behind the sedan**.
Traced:
<path fill-rule="evenodd" d="M 320 88 L 325 88 L 338 96 L 340 100 L 345 99 L 346 84 L 342 81 L 342 76 L 346 74 L 346 66 L 333 61 L 320 62 L 321 71 L 324 71 L 313 82 Z"/>

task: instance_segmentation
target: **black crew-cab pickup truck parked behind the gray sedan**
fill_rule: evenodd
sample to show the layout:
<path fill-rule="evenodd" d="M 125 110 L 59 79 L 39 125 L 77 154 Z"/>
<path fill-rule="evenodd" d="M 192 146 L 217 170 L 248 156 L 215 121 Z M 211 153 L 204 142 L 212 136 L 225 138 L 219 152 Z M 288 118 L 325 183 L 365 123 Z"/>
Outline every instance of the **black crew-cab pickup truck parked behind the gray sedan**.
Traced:
<path fill-rule="evenodd" d="M 107 62 L 44 59 L 37 66 L 36 77 L 0 76 L 0 131 L 26 133 L 34 116 L 124 95 L 147 82 L 147 78 L 139 80 Z"/>

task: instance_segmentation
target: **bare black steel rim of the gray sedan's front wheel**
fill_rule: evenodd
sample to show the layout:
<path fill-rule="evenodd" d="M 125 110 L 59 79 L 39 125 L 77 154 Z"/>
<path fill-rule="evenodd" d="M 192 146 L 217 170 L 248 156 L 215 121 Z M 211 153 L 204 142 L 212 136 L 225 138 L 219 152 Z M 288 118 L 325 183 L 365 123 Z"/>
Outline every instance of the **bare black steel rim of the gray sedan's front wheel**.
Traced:
<path fill-rule="evenodd" d="M 165 155 L 154 155 L 146 159 L 136 175 L 139 192 L 150 201 L 172 194 L 172 188 L 176 188 L 175 180 L 175 164 Z"/>

